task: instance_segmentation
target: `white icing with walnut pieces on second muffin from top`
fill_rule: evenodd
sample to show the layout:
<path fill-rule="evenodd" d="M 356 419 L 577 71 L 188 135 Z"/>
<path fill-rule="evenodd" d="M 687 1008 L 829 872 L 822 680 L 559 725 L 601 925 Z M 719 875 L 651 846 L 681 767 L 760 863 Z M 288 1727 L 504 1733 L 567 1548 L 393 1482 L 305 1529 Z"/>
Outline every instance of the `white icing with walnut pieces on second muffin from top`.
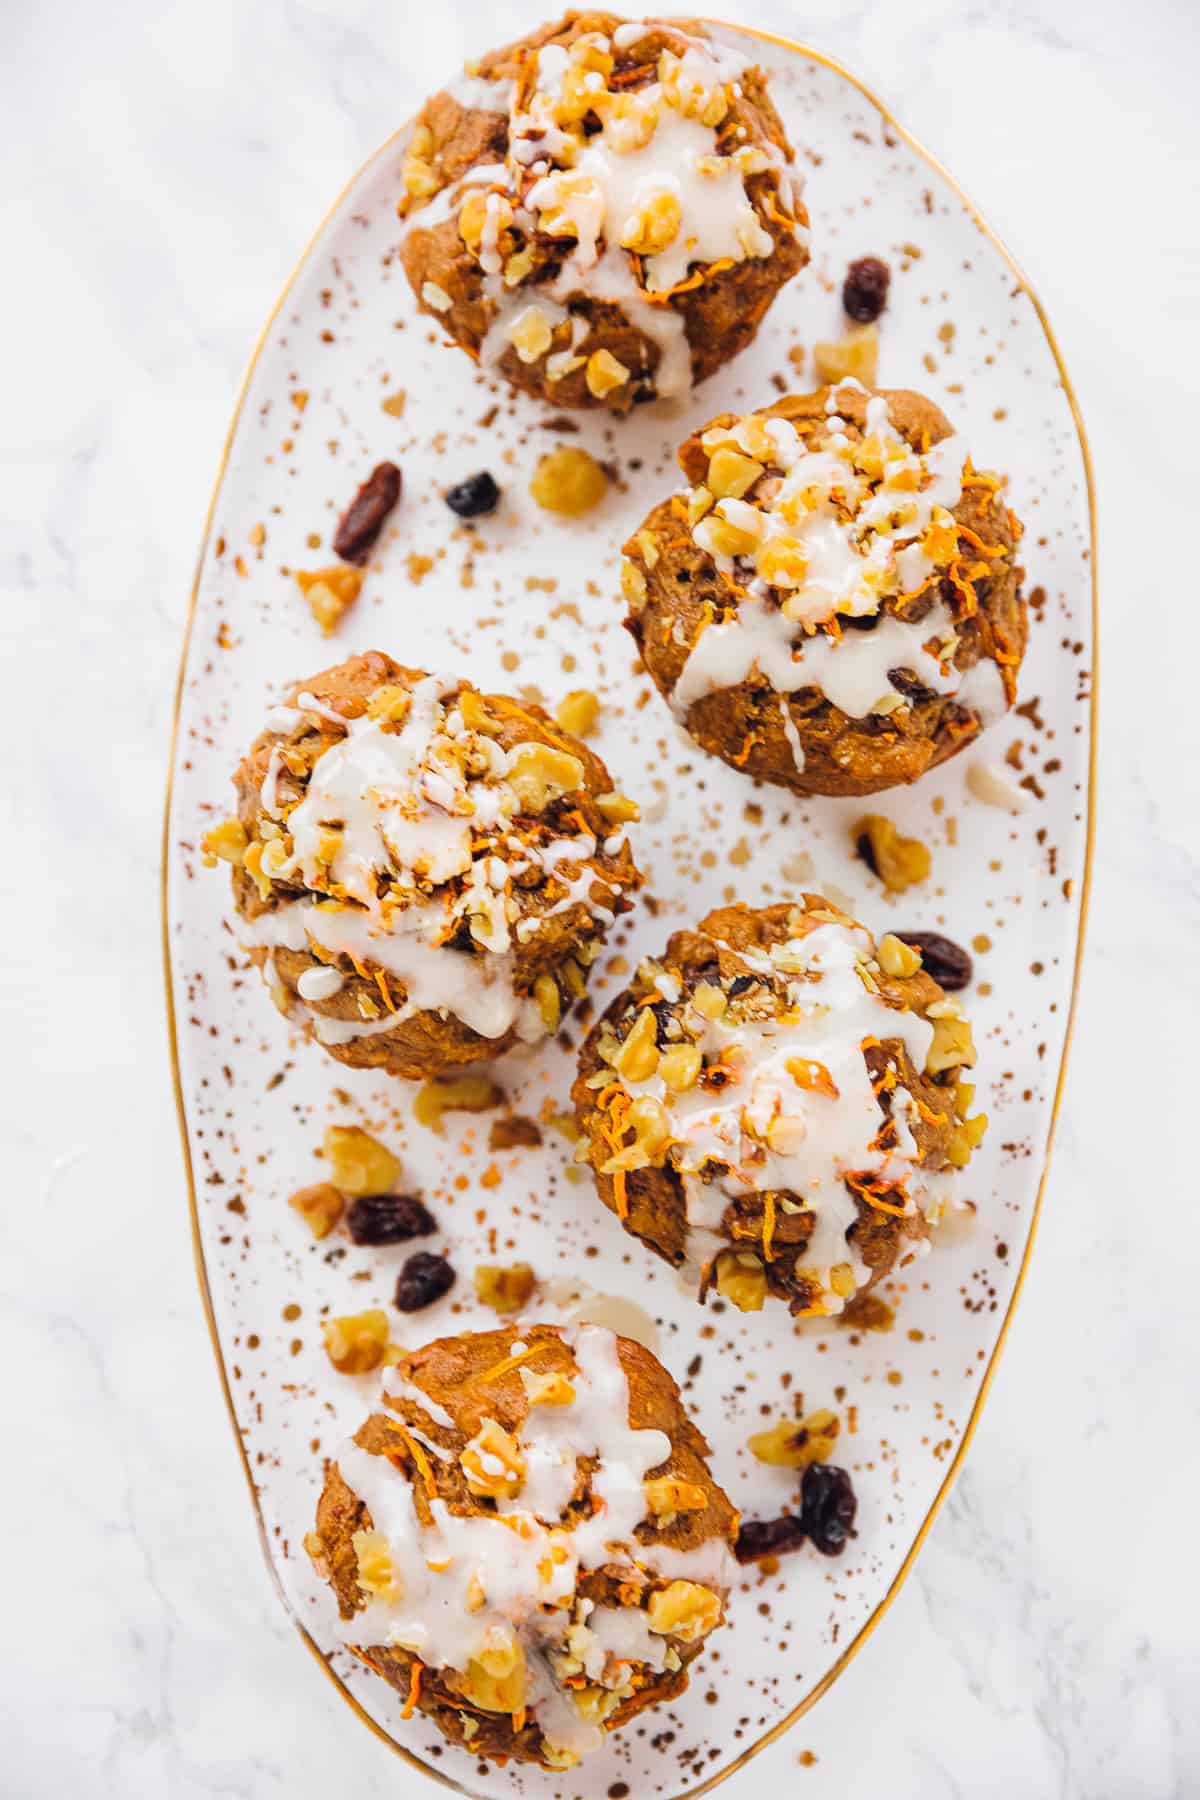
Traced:
<path fill-rule="evenodd" d="M 729 619 L 703 626 L 693 643 L 671 693 L 680 720 L 703 695 L 738 686 L 754 671 L 781 695 L 815 688 L 849 718 L 865 718 L 903 704 L 889 679 L 892 668 L 954 697 L 981 725 L 1004 715 L 999 666 L 990 657 L 966 671 L 955 666 L 959 637 L 943 601 L 918 621 L 880 612 L 885 598 L 928 585 L 954 554 L 952 513 L 966 463 L 961 439 L 912 450 L 889 418 L 887 398 L 873 394 L 862 439 L 831 412 L 815 446 L 788 419 L 757 414 L 711 428 L 702 443 L 711 454 L 725 446 L 761 464 L 770 482 L 757 490 L 761 497 L 716 500 L 693 526 L 696 544 L 739 598 Z M 702 490 L 693 490 L 693 504 L 698 499 Z M 743 535 L 736 553 L 727 527 Z M 748 574 L 747 565 L 754 565 Z M 838 616 L 876 623 L 838 632 Z M 802 769 L 786 706 L 781 716 Z"/>

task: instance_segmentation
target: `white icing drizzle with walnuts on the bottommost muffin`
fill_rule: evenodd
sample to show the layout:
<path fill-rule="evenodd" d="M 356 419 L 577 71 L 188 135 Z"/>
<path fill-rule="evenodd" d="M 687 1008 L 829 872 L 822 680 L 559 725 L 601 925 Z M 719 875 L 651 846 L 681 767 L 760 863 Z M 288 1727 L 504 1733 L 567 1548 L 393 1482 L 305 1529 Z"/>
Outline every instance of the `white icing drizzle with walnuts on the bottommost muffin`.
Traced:
<path fill-rule="evenodd" d="M 583 1755 L 603 1733 L 581 1717 L 563 1676 L 581 1667 L 588 1681 L 619 1688 L 630 1661 L 660 1670 L 671 1656 L 669 1638 L 651 1633 L 639 1607 L 576 1602 L 583 1571 L 617 1566 L 642 1579 L 698 1580 L 723 1595 L 736 1564 L 723 1539 L 694 1552 L 637 1541 L 635 1528 L 648 1517 L 644 1480 L 669 1458 L 671 1440 L 630 1426 L 630 1388 L 612 1332 L 585 1325 L 565 1332 L 563 1343 L 576 1363 L 574 1400 L 531 1406 L 516 1435 L 525 1476 L 515 1498 L 498 1501 L 500 1516 L 464 1517 L 434 1499 L 432 1525 L 425 1526 L 408 1481 L 385 1456 L 353 1442 L 338 1451 L 342 1478 L 387 1539 L 396 1589 L 394 1598 L 372 1598 L 342 1620 L 338 1634 L 354 1645 L 401 1645 L 430 1667 L 459 1672 L 482 1651 L 515 1638 L 525 1660 L 529 1714 L 556 1750 Z M 536 1357 L 529 1368 L 536 1372 Z M 437 1424 L 453 1424 L 444 1408 L 399 1377 L 389 1377 L 387 1391 Z M 565 1508 L 581 1456 L 597 1460 L 592 1494 L 599 1507 L 569 1525 Z M 569 1663 L 561 1663 L 565 1656 Z"/>

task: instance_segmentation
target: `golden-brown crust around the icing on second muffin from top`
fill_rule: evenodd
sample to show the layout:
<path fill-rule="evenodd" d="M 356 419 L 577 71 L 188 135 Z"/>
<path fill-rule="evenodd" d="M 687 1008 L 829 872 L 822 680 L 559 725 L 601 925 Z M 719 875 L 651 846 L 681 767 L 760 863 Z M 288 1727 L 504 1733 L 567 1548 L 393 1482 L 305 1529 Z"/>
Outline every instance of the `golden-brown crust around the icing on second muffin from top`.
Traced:
<path fill-rule="evenodd" d="M 853 383 L 822 387 L 779 400 L 752 418 L 784 419 L 811 445 L 824 439 L 828 409 L 837 405 L 846 436 L 862 443 L 871 398 Z M 921 394 L 892 389 L 883 392 L 883 400 L 891 425 L 918 454 L 950 436 L 945 414 Z M 721 414 L 682 445 L 678 461 L 693 491 L 700 491 L 709 475 L 703 439 L 709 434 L 720 437 L 725 427 L 736 423 L 732 414 Z M 772 479 L 770 468 L 766 479 Z M 756 506 L 761 491 L 763 482 L 741 499 Z M 966 704 L 970 682 L 959 700 L 954 693 L 930 689 L 903 668 L 898 671 L 903 686 L 892 682 L 885 689 L 885 702 L 894 704 L 894 711 L 869 711 L 865 716 L 847 715 L 817 686 L 781 693 L 757 666 L 745 679 L 714 686 L 680 706 L 676 686 L 696 643 L 712 621 L 725 623 L 747 605 L 748 580 L 741 574 L 748 565 L 736 563 L 734 578 L 696 542 L 687 511 L 689 502 L 682 497 L 653 508 L 624 545 L 622 587 L 630 601 L 626 626 L 655 686 L 705 751 L 748 776 L 797 794 L 853 796 L 916 781 L 975 740 L 988 718 L 986 709 Z M 957 635 L 945 659 L 946 668 L 952 664 L 966 675 L 991 662 L 997 671 L 993 686 L 997 695 L 1002 693 L 999 704 L 1011 706 L 1027 635 L 1024 571 L 1015 562 L 1020 526 L 1004 504 L 1004 482 L 977 473 L 970 463 L 952 517 L 957 544 L 939 554 L 932 580 L 918 592 L 883 594 L 878 610 L 865 617 L 837 616 L 829 630 L 840 634 L 842 652 L 858 653 L 855 639 L 864 628 L 871 632 L 889 617 L 919 625 L 936 607 L 945 608 Z M 784 598 L 784 590 L 774 590 L 768 603 L 777 605 Z M 799 623 L 793 641 L 801 646 L 806 641 Z"/>

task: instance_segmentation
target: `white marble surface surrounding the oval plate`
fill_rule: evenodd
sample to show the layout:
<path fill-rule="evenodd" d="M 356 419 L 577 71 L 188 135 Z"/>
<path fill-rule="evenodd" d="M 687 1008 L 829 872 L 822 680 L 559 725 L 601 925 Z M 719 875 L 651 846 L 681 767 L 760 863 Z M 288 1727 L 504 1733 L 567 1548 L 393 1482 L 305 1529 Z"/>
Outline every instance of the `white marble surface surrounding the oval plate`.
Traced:
<path fill-rule="evenodd" d="M 1105 724 L 1056 1166 L 975 1447 L 849 1674 L 725 1793 L 1195 1795 L 1196 13 L 734 13 L 858 70 L 1042 293 L 1097 464 Z M 191 563 L 264 313 L 419 92 L 538 14 L 423 9 L 416 41 L 381 0 L 45 0 L 0 23 L 13 1800 L 425 1791 L 306 1660 L 259 1557 L 191 1269 L 158 815 Z"/>

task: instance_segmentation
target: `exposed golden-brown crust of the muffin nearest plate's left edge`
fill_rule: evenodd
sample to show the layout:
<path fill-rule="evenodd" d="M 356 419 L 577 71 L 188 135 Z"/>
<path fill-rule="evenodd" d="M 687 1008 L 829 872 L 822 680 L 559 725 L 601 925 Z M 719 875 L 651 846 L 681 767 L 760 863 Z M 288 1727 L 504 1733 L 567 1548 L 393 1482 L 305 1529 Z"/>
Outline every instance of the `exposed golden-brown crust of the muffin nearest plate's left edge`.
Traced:
<path fill-rule="evenodd" d="M 488 828 L 486 821 L 479 828 L 473 826 L 471 860 L 446 880 L 414 878 L 408 871 L 405 880 L 416 880 L 416 886 L 405 887 L 385 850 L 376 846 L 380 871 L 374 887 L 381 895 L 380 905 L 385 911 L 394 909 L 387 916 L 398 929 L 405 929 L 405 907 L 410 902 L 425 909 L 441 905 L 446 914 L 444 941 L 423 945 L 425 956 L 457 959 L 452 974 L 461 976 L 459 985 L 466 986 L 489 977 L 493 965 L 500 968 L 497 979 L 504 983 L 506 992 L 511 992 L 513 1021 L 506 1030 L 484 1035 L 459 1017 L 453 1006 L 407 1012 L 408 988 L 403 976 L 398 976 L 394 967 L 389 968 L 387 931 L 371 938 L 365 949 L 338 954 L 331 949 L 338 941 L 336 936 L 324 945 L 311 938 L 313 925 L 326 914 L 309 914 L 309 938 L 304 947 L 279 941 L 291 936 L 288 931 L 281 932 L 279 922 L 297 900 L 333 902 L 362 911 L 362 889 L 358 898 L 347 895 L 333 878 L 335 869 L 318 868 L 315 875 L 311 862 L 297 866 L 293 859 L 281 864 L 281 873 L 270 875 L 273 851 L 268 846 L 272 841 L 279 842 L 282 833 L 282 846 L 288 848 L 290 819 L 309 792 L 313 770 L 331 749 L 347 742 L 336 720 L 345 720 L 349 729 L 354 722 L 365 724 L 372 706 L 392 704 L 401 716 L 383 718 L 381 729 L 401 731 L 405 695 L 412 697 L 428 682 L 423 671 L 403 668 L 381 652 L 351 657 L 309 680 L 295 682 L 286 697 L 295 718 L 291 722 L 284 718 L 281 729 L 264 731 L 236 774 L 237 819 L 245 842 L 237 846 L 234 898 L 250 940 L 250 954 L 259 967 L 264 967 L 277 1004 L 304 1017 L 318 1035 L 329 1037 L 331 1040 L 322 1039 L 324 1048 L 340 1062 L 354 1067 L 383 1067 L 410 1078 L 497 1057 L 520 1037 L 552 1030 L 558 1015 L 583 994 L 587 968 L 603 941 L 606 922 L 628 909 L 626 893 L 640 880 L 626 839 L 612 850 L 604 848 L 606 842 L 612 844 L 613 832 L 619 832 L 601 810 L 601 803 L 610 805 L 613 797 L 604 763 L 578 738 L 560 731 L 542 707 L 507 695 L 479 695 L 470 682 L 452 680 L 441 688 L 443 718 L 473 700 L 471 718 L 484 720 L 475 738 L 461 733 L 459 745 L 479 743 L 484 751 L 493 745 L 498 752 L 497 763 L 511 761 L 511 752 L 518 752 L 522 745 L 545 745 L 556 758 L 567 758 L 563 767 L 569 770 L 569 779 L 576 776 L 578 779 L 572 779 L 563 792 L 552 788 L 545 796 L 534 792 L 533 799 L 529 790 L 522 788 L 527 797 L 520 801 L 516 812 L 502 814 L 495 828 Z M 306 709 L 297 707 L 300 697 L 306 700 Z M 273 783 L 273 815 L 264 808 L 264 783 L 268 787 Z M 466 787 L 468 796 L 475 792 L 473 785 Z M 511 788 L 504 787 L 504 792 L 507 805 L 513 805 Z M 536 806 L 538 799 L 545 803 Z M 459 792 L 453 805 L 470 810 L 471 801 L 470 797 L 464 801 Z M 635 812 L 635 808 L 626 810 Z M 446 824 L 444 814 L 428 801 L 428 796 L 419 806 L 414 801 L 414 814 L 417 824 L 421 817 L 430 819 L 434 826 Z M 561 846 L 569 839 L 579 841 L 578 859 L 554 862 L 551 857 L 545 864 L 538 860 L 540 848 Z M 263 860 L 264 855 L 268 862 Z M 477 882 L 477 864 L 484 857 L 491 859 L 493 866 L 497 860 L 504 864 L 504 886 L 493 904 L 507 913 L 506 918 L 491 922 L 491 936 L 482 934 L 488 941 L 480 941 L 475 914 L 470 911 L 479 904 L 471 882 Z M 495 893 L 495 882 L 491 887 Z M 374 904 L 374 891 L 367 898 Z M 336 920 L 327 920 L 331 934 L 335 923 Z M 504 963 L 498 963 L 488 947 L 500 941 L 495 932 L 507 941 Z M 302 977 L 320 968 L 336 970 L 342 977 L 340 986 L 327 997 L 304 999 L 299 992 Z M 452 981 L 450 988 L 453 985 Z M 437 992 L 443 992 L 441 986 Z M 396 1024 L 385 1028 L 381 1021 L 392 1012 L 398 1013 Z M 506 1012 L 502 1010 L 498 1017 L 502 1021 Z M 354 1035 L 356 1031 L 363 1035 Z"/>

